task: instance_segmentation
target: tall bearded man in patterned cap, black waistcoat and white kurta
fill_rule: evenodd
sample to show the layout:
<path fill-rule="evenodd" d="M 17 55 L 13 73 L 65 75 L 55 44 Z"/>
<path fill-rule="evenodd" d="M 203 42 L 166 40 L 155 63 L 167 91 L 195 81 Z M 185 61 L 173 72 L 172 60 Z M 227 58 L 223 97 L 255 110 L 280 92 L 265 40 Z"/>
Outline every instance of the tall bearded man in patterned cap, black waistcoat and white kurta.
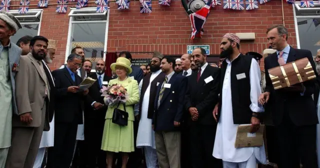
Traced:
<path fill-rule="evenodd" d="M 239 52 L 240 38 L 226 33 L 221 39 L 221 55 L 226 57 L 221 65 L 219 103 L 213 117 L 218 121 L 212 155 L 222 159 L 223 167 L 255 167 L 256 160 L 265 164 L 264 146 L 235 148 L 237 128 L 251 124 L 253 133 L 260 126 L 263 112 L 258 97 L 261 94 L 260 67 L 249 55 Z M 231 96 L 232 95 L 232 96 Z M 240 96 L 239 96 L 240 95 Z"/>

